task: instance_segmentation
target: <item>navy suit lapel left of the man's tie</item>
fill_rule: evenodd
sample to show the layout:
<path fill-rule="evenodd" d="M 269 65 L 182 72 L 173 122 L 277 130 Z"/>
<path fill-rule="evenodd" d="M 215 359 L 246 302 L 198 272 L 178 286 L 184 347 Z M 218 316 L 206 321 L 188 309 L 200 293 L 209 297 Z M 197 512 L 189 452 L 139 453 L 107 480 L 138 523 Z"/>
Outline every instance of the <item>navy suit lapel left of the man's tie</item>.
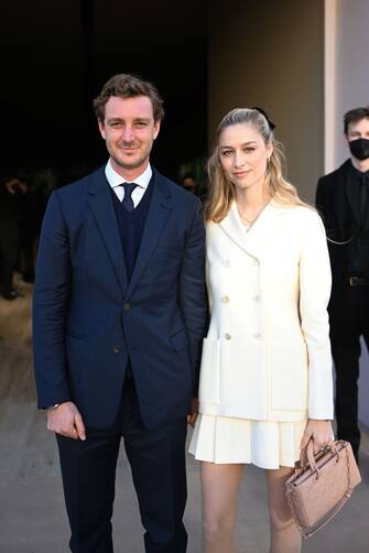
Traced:
<path fill-rule="evenodd" d="M 127 269 L 111 192 L 105 176 L 104 167 L 93 175 L 93 183 L 88 192 L 89 207 L 108 250 L 119 284 L 124 293 L 128 285 Z"/>

